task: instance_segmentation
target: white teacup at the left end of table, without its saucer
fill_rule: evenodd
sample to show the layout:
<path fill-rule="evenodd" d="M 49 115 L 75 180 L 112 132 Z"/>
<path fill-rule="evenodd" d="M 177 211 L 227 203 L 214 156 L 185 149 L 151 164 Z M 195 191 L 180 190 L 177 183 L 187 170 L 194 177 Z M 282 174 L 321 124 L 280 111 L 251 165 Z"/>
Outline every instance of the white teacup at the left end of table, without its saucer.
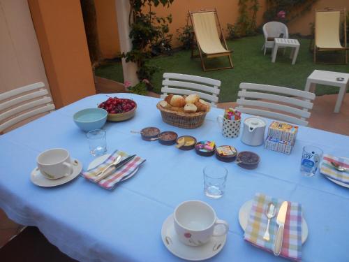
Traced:
<path fill-rule="evenodd" d="M 63 148 L 46 150 L 36 158 L 40 173 L 49 179 L 66 177 L 73 173 L 69 152 Z"/>

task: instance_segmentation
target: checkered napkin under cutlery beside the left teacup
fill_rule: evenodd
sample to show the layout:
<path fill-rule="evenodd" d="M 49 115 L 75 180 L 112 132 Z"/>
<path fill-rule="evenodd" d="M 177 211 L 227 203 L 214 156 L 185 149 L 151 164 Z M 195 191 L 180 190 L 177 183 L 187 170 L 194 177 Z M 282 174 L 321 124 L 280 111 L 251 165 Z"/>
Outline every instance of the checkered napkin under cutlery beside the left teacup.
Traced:
<path fill-rule="evenodd" d="M 87 170 L 87 172 L 83 172 L 82 176 L 84 178 L 86 178 L 87 180 L 90 180 L 91 182 L 97 183 L 95 181 L 98 178 L 98 177 L 96 177 L 96 174 L 101 172 L 101 170 L 103 170 L 107 165 L 112 163 L 112 161 L 114 161 L 114 159 L 116 159 L 119 155 L 121 155 L 121 157 L 122 157 L 121 161 L 126 159 L 126 157 L 128 157 L 128 154 L 126 154 L 125 152 L 115 150 L 110 155 L 110 157 L 107 158 L 107 160 L 105 160 L 103 163 L 96 166 L 95 168 Z M 132 159 L 131 161 L 126 163 L 124 166 L 115 170 L 115 172 L 112 173 L 112 175 L 105 177 L 105 179 L 101 180 L 97 184 L 100 187 L 103 187 L 105 189 L 109 189 L 109 190 L 114 189 L 114 187 L 116 187 L 117 183 L 121 182 L 124 179 L 124 177 L 131 175 L 133 173 L 133 171 L 135 171 L 135 169 L 138 168 L 138 166 L 140 166 L 144 161 L 145 161 L 145 159 L 142 159 L 142 158 L 136 156 L 134 159 Z"/>

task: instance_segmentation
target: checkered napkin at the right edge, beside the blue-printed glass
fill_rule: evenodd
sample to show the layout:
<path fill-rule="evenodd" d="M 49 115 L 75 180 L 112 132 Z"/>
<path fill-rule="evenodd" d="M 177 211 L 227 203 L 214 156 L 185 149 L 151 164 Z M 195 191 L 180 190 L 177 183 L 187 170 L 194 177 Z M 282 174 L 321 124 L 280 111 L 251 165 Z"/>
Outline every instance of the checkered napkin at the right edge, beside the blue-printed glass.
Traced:
<path fill-rule="evenodd" d="M 349 168 L 349 159 L 344 157 L 334 157 L 329 154 L 324 154 L 324 157 L 320 166 L 320 173 L 322 175 L 326 175 L 334 180 L 338 180 L 340 182 L 349 184 L 349 172 L 348 171 L 339 171 L 332 166 L 332 163 L 338 163 L 339 166 L 343 166 L 345 168 Z"/>

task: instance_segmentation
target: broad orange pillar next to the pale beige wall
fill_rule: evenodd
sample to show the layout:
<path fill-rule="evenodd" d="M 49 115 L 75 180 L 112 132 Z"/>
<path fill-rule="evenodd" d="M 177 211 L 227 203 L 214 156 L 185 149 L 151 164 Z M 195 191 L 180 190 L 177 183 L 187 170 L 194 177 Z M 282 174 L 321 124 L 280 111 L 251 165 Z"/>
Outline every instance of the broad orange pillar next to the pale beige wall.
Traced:
<path fill-rule="evenodd" d="M 79 0 L 28 0 L 54 104 L 96 94 Z"/>

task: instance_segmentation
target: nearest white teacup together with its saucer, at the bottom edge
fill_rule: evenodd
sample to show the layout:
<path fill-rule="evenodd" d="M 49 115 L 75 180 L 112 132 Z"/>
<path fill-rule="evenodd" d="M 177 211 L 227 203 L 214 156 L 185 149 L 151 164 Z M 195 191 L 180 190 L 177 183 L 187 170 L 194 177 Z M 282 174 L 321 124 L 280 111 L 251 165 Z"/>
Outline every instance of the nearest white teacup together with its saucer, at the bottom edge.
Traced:
<path fill-rule="evenodd" d="M 209 259 L 223 249 L 227 222 L 202 201 L 185 201 L 163 223 L 161 238 L 168 250 L 181 259 Z"/>

